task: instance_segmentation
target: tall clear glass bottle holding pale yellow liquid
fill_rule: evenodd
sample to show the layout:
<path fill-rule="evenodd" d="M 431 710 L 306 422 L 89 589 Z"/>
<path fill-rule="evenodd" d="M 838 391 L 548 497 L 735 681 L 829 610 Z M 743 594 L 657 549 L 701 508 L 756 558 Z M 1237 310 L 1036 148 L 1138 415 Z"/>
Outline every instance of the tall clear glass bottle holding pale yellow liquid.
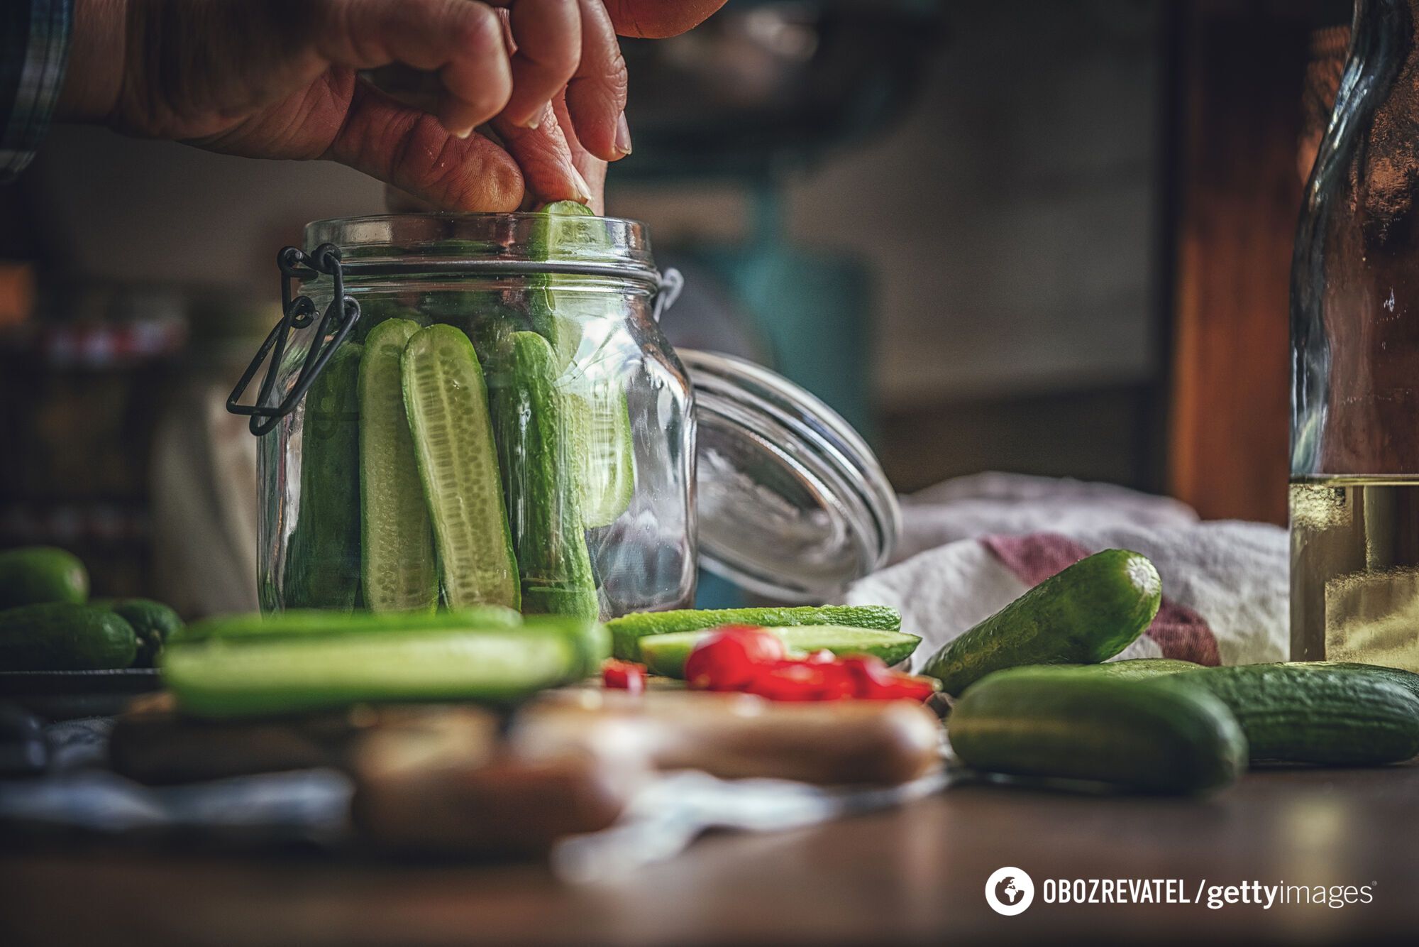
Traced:
<path fill-rule="evenodd" d="M 1291 271 L 1291 656 L 1419 670 L 1419 0 L 1358 0 Z"/>

